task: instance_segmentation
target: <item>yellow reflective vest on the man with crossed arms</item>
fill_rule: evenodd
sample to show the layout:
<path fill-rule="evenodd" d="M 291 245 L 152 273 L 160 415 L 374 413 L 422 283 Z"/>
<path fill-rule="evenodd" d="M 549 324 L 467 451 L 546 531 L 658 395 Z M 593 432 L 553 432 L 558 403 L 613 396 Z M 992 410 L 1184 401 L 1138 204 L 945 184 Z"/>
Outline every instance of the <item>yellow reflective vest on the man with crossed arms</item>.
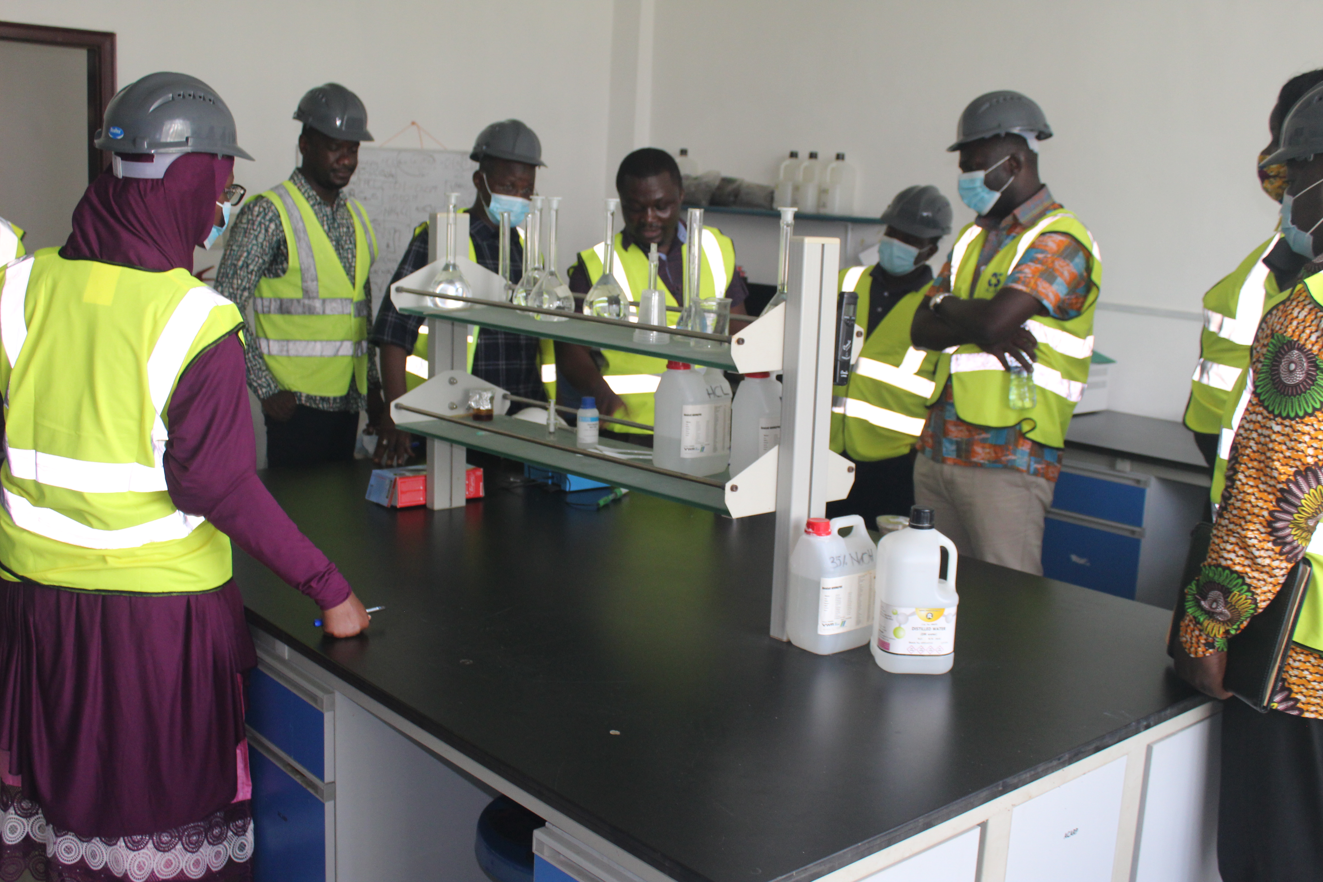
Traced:
<path fill-rule="evenodd" d="M 998 251 L 979 276 L 974 291 L 974 270 L 987 231 L 970 223 L 960 230 L 951 249 L 951 294 L 962 299 L 988 300 L 1002 290 L 1011 270 L 1024 258 L 1033 241 L 1044 233 L 1068 233 L 1090 254 L 1089 295 L 1074 319 L 1062 321 L 1052 316 L 1035 316 L 1024 327 L 1039 341 L 1033 365 L 1037 403 L 1028 410 L 1012 410 L 1008 403 L 1011 374 L 976 344 L 943 352 L 938 362 L 935 389 L 930 405 L 941 397 L 947 377 L 955 393 L 955 413 L 964 422 L 992 428 L 1020 426 L 1031 439 L 1048 447 L 1065 446 L 1070 415 L 1084 397 L 1093 356 L 1093 312 L 1102 284 L 1102 259 L 1098 245 L 1080 220 L 1066 210 L 1041 218 L 1020 235 L 1011 238 Z"/>

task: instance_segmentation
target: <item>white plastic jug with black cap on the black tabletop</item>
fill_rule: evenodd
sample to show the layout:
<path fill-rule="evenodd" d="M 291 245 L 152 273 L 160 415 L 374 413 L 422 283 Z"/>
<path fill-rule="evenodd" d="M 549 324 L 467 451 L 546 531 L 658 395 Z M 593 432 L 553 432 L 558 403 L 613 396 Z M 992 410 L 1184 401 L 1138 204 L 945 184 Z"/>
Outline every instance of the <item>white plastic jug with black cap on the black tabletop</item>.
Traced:
<path fill-rule="evenodd" d="M 945 553 L 943 553 L 945 551 Z M 882 670 L 945 674 L 955 659 L 955 543 L 914 506 L 904 530 L 877 543 L 877 608 L 869 651 Z"/>

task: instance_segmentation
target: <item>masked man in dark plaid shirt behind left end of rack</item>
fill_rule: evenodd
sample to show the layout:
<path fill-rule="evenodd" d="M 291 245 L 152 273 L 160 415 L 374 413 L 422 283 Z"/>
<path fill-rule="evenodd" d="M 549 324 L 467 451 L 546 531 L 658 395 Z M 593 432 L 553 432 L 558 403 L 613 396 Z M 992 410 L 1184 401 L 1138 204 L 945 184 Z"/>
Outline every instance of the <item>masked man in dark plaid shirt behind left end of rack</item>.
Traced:
<path fill-rule="evenodd" d="M 537 169 L 542 161 L 542 143 L 532 128 L 517 119 L 492 123 L 478 135 L 468 159 L 478 163 L 474 186 L 478 196 L 468 209 L 468 259 L 496 272 L 500 266 L 500 214 L 509 213 L 509 272 L 516 282 L 524 274 L 523 233 L 515 230 L 528 216 L 529 200 L 537 185 Z M 460 227 L 463 229 L 463 227 Z M 409 242 L 390 283 L 427 266 L 427 223 L 419 223 Z M 386 413 L 381 418 L 380 438 L 373 459 L 382 465 L 407 461 L 413 435 L 400 431 L 390 419 L 389 403 L 426 378 L 425 373 L 409 369 L 410 356 L 427 358 L 427 339 L 421 335 L 423 320 L 402 315 L 390 301 L 389 294 L 372 327 L 372 342 L 381 350 L 381 380 L 386 393 Z M 545 354 L 544 354 L 545 353 Z M 536 337 L 479 328 L 471 346 L 471 368 L 475 377 L 495 383 L 511 393 L 536 401 L 546 401 L 542 387 L 541 364 L 552 361 L 550 345 L 545 348 Z M 523 405 L 511 405 L 517 413 Z"/>

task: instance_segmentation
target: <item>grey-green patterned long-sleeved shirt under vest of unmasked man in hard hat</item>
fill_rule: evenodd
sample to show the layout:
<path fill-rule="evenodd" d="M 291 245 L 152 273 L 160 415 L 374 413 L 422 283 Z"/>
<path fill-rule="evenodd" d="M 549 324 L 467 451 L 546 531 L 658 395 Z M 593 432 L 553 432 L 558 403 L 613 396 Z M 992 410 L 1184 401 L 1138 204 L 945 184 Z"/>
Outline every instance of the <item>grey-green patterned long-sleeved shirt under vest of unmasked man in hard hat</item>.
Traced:
<path fill-rule="evenodd" d="M 303 172 L 294 169 L 290 181 L 298 188 L 303 198 L 312 206 L 312 214 L 318 218 L 321 229 L 331 238 L 340 266 L 344 267 L 349 279 L 353 279 L 355 241 L 353 217 L 349 205 L 343 194 L 336 194 L 335 205 L 327 205 L 320 196 L 303 177 Z M 366 255 L 365 255 L 366 257 Z M 280 214 L 269 198 L 251 198 L 234 218 L 225 241 L 225 255 L 221 266 L 216 270 L 216 290 L 238 304 L 243 313 L 243 339 L 247 342 L 243 357 L 247 361 L 249 389 L 258 398 L 270 398 L 280 391 L 280 383 L 271 376 L 266 366 L 266 358 L 257 348 L 257 335 L 253 332 L 253 319 L 249 305 L 253 301 L 253 291 L 262 279 L 279 279 L 290 268 L 290 249 L 284 241 L 284 226 L 280 223 Z M 364 296 L 368 299 L 368 312 L 372 312 L 372 283 L 364 282 Z M 380 389 L 381 378 L 377 373 L 376 350 L 368 348 L 368 387 Z M 363 393 L 349 380 L 349 387 L 344 395 L 308 395 L 302 391 L 294 393 L 300 405 L 316 407 L 318 410 L 363 410 L 365 399 Z"/>

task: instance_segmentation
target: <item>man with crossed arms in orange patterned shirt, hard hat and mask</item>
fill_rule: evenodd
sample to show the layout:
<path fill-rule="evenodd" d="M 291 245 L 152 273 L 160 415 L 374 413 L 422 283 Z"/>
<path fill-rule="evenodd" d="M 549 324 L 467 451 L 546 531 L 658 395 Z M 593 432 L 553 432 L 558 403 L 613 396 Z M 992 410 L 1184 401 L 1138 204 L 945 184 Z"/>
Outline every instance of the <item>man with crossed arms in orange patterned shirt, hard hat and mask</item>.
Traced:
<path fill-rule="evenodd" d="M 1043 518 L 1093 354 L 1102 266 L 1093 235 L 1039 179 L 1052 128 L 1015 91 L 960 114 L 960 230 L 914 312 L 916 346 L 945 350 L 918 440 L 914 496 L 962 553 L 1043 573 Z"/>

